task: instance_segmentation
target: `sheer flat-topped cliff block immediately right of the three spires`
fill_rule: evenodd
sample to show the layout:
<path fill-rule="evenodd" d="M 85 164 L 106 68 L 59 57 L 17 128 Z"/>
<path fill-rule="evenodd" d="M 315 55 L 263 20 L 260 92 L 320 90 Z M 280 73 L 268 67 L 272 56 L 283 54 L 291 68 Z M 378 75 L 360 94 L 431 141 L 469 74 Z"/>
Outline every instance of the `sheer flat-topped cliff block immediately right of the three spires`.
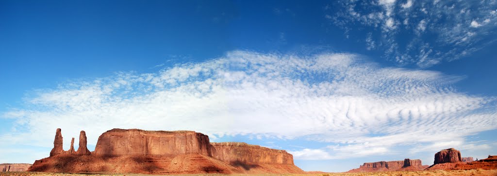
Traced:
<path fill-rule="evenodd" d="M 96 143 L 101 156 L 201 154 L 210 156 L 209 137 L 195 131 L 111 129 Z"/>

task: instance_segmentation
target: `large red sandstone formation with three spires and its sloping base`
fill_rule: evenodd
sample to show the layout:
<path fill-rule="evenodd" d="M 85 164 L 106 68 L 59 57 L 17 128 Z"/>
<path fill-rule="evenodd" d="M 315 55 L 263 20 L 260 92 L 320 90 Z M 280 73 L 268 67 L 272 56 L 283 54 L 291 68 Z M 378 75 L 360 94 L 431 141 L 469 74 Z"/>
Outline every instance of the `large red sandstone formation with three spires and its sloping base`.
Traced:
<path fill-rule="evenodd" d="M 52 173 L 138 173 L 138 174 L 304 174 L 284 150 L 240 142 L 211 143 L 195 131 L 146 131 L 111 129 L 98 137 L 95 151 L 80 147 L 62 148 L 57 129 L 48 158 L 36 160 L 31 172 Z"/>

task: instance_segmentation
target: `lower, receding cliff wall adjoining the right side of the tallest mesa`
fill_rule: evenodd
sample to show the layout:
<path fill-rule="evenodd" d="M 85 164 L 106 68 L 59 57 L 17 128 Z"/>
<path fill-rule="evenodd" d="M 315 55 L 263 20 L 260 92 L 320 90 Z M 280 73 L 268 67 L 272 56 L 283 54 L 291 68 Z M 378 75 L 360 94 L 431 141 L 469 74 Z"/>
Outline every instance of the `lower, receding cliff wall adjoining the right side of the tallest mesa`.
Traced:
<path fill-rule="evenodd" d="M 293 165 L 293 156 L 285 150 L 270 149 L 243 142 L 213 142 L 211 154 L 213 158 L 226 163 Z"/>

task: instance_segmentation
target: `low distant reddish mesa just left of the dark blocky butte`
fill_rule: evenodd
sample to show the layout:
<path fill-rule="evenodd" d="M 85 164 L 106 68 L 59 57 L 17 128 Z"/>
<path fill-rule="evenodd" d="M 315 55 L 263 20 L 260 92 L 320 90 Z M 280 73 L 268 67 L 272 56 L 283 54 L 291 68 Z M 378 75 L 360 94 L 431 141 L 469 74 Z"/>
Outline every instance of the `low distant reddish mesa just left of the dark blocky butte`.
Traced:
<path fill-rule="evenodd" d="M 383 172 L 383 171 L 421 171 L 428 168 L 422 165 L 421 160 L 404 159 L 404 161 L 380 161 L 374 163 L 364 163 L 357 169 L 352 169 L 347 173 Z"/>

